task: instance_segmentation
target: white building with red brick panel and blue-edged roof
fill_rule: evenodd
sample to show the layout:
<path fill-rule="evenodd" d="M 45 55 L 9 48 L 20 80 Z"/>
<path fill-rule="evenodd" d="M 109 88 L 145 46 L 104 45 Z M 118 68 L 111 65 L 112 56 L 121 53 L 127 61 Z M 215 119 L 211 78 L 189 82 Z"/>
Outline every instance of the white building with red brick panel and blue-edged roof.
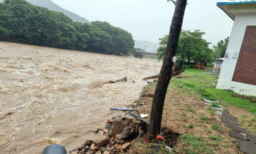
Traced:
<path fill-rule="evenodd" d="M 217 88 L 256 96 L 256 1 L 217 6 L 234 20 Z"/>

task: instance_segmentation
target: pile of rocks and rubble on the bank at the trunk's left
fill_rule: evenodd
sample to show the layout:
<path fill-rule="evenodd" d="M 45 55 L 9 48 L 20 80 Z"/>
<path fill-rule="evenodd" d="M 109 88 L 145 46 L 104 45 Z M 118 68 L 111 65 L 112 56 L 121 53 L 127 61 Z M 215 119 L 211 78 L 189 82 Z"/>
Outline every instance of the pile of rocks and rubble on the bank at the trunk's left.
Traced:
<path fill-rule="evenodd" d="M 138 112 L 131 114 L 138 115 Z M 98 136 L 94 140 L 87 140 L 78 147 L 76 153 L 129 153 L 137 137 L 145 136 L 144 132 L 146 132 L 146 123 L 132 115 L 118 115 L 109 119 L 105 128 L 98 129 Z"/>

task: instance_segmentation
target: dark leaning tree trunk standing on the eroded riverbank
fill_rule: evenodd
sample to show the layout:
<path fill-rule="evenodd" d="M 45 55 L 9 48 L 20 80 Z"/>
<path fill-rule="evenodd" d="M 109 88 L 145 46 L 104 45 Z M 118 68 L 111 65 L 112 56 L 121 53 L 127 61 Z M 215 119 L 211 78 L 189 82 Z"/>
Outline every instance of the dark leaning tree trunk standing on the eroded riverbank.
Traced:
<path fill-rule="evenodd" d="M 160 134 L 162 111 L 165 104 L 165 95 L 173 73 L 173 57 L 176 55 L 178 38 L 181 34 L 181 27 L 186 6 L 187 0 L 178 0 L 176 2 L 173 20 L 170 25 L 170 33 L 165 50 L 165 57 L 162 63 L 161 72 L 158 77 L 157 88 L 154 92 L 146 142 L 150 142 L 152 139 L 156 139 L 157 135 Z"/>

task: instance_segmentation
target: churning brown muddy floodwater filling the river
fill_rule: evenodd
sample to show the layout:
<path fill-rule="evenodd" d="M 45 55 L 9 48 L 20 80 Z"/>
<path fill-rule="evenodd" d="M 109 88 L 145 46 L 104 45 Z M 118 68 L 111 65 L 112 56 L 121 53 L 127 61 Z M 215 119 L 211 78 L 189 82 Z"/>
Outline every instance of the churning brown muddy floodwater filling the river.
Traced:
<path fill-rule="evenodd" d="M 0 42 L 0 153 L 67 151 L 138 99 L 161 62 Z M 127 82 L 106 84 L 127 77 Z M 135 82 L 132 82 L 135 81 Z"/>

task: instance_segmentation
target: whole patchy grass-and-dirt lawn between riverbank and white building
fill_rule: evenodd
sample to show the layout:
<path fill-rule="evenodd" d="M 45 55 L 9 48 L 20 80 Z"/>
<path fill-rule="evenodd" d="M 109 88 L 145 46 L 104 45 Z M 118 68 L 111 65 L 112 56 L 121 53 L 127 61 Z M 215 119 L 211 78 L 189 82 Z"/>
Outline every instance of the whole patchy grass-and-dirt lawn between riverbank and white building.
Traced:
<path fill-rule="evenodd" d="M 252 131 L 252 134 L 256 134 L 256 104 L 232 96 L 233 91 L 216 89 L 216 74 L 186 69 L 181 75 L 184 77 L 173 77 L 170 81 L 162 114 L 162 128 L 170 128 L 178 134 L 177 140 L 173 141 L 175 143 L 168 145 L 172 147 L 168 153 L 240 153 L 236 139 L 228 135 L 230 129 L 224 126 L 214 109 L 206 105 L 203 99 L 220 101 L 230 114 L 238 118 L 241 126 Z M 143 94 L 154 94 L 156 85 L 146 85 Z M 140 98 L 140 104 L 144 104 L 138 103 L 140 112 L 150 115 L 152 101 L 151 97 Z M 218 105 L 214 104 L 216 107 Z M 149 119 L 145 118 L 147 121 Z M 154 147 L 142 144 L 137 150 L 151 153 Z M 164 147 L 162 145 L 158 153 L 167 153 Z"/>

